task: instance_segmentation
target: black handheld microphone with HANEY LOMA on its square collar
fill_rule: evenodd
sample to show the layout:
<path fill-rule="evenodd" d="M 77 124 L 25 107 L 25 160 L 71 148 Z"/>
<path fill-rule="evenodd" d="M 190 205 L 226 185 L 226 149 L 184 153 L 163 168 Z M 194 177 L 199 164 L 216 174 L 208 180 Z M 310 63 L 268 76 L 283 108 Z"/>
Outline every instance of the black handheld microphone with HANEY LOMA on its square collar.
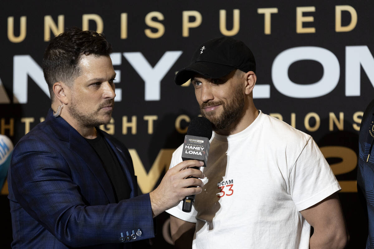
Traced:
<path fill-rule="evenodd" d="M 204 162 L 206 167 L 209 155 L 209 139 L 212 137 L 212 123 L 204 117 L 197 117 L 191 120 L 188 125 L 187 134 L 184 137 L 182 160 L 196 159 Z M 200 169 L 200 167 L 193 167 Z M 195 195 L 183 199 L 182 211 L 191 212 Z"/>

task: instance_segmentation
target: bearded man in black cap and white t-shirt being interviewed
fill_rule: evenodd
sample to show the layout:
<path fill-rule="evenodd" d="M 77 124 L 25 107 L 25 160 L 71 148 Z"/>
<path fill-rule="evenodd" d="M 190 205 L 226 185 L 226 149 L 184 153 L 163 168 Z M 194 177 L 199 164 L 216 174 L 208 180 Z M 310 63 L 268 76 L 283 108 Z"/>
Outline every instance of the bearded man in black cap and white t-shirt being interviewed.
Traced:
<path fill-rule="evenodd" d="M 221 37 L 201 44 L 175 76 L 178 85 L 191 79 L 214 130 L 192 211 L 181 203 L 166 211 L 175 246 L 344 248 L 340 186 L 312 137 L 255 108 L 255 70 L 243 42 Z"/>

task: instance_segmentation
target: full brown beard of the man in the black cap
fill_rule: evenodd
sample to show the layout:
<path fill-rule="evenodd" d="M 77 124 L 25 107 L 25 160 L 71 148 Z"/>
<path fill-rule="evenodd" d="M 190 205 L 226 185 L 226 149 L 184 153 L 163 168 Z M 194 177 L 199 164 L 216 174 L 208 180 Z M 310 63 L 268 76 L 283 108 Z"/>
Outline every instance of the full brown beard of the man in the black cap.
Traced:
<path fill-rule="evenodd" d="M 244 96 L 241 87 L 237 87 L 234 96 L 230 102 L 225 104 L 223 101 L 209 101 L 200 105 L 200 113 L 203 117 L 208 118 L 213 124 L 213 130 L 227 130 L 234 128 L 236 121 L 243 115 Z M 205 113 L 203 108 L 206 106 L 222 105 L 223 112 L 216 117 L 213 112 Z"/>

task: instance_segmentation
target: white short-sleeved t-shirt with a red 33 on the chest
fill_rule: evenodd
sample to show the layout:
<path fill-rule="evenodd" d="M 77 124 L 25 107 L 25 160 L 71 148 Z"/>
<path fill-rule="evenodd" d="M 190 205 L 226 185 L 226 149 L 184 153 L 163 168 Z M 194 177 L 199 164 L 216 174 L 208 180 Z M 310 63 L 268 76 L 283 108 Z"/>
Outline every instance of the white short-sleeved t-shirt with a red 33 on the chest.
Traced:
<path fill-rule="evenodd" d="M 183 144 L 170 167 L 182 161 Z M 259 111 L 245 130 L 213 133 L 203 191 L 190 213 L 182 203 L 167 210 L 196 222 L 193 248 L 309 248 L 302 211 L 340 190 L 309 135 Z"/>

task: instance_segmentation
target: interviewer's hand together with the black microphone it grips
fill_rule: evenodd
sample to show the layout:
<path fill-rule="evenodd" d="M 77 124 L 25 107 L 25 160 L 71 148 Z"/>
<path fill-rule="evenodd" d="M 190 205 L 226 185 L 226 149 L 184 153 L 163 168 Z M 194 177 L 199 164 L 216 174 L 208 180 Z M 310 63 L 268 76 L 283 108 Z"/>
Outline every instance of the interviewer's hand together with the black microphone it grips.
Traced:
<path fill-rule="evenodd" d="M 153 217 L 178 205 L 183 199 L 183 209 L 191 211 L 194 195 L 200 193 L 203 186 L 199 178 L 204 178 L 204 174 L 199 169 L 206 166 L 211 137 L 212 124 L 208 119 L 198 117 L 190 122 L 183 144 L 183 162 L 166 171 L 159 186 L 149 193 Z M 185 146 L 192 147 L 187 149 Z"/>

